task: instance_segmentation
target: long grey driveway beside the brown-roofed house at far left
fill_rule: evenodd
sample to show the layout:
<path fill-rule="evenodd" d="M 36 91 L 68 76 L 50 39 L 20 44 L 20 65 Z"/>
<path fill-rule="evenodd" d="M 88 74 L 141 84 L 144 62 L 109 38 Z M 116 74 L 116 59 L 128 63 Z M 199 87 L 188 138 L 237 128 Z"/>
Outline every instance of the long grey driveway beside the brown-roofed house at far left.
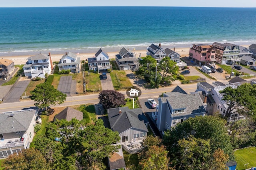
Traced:
<path fill-rule="evenodd" d="M 30 80 L 30 78 L 22 77 L 20 81 L 18 81 L 17 84 L 12 88 L 3 103 L 20 102 L 20 97 L 25 92 Z"/>

